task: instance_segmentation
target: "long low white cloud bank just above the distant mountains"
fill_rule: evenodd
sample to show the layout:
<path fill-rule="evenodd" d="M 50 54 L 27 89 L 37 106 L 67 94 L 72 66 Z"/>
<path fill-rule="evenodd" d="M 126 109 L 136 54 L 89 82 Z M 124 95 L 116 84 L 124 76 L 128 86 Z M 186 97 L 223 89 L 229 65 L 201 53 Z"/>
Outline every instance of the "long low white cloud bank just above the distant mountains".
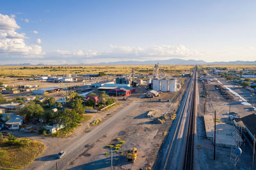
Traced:
<path fill-rule="evenodd" d="M 114 46 L 110 45 L 109 50 L 97 52 L 94 50 L 57 50 L 57 53 L 45 56 L 45 59 L 51 59 L 54 56 L 56 60 L 67 60 L 67 62 L 109 62 L 122 60 L 164 60 L 173 58 L 198 58 L 205 55 L 184 45 L 177 46 Z M 86 61 L 85 61 L 86 60 Z"/>

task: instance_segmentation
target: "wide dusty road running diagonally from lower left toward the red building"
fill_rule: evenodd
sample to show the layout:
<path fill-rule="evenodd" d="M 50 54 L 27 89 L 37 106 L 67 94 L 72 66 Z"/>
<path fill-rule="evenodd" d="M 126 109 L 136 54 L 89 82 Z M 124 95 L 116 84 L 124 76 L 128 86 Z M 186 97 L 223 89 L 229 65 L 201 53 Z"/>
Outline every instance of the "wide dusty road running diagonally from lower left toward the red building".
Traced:
<path fill-rule="evenodd" d="M 58 160 L 59 169 L 65 169 L 65 167 L 67 167 L 72 160 L 76 159 L 76 157 L 81 155 L 84 150 L 86 150 L 86 148 L 84 148 L 85 145 L 96 141 L 98 138 L 106 134 L 109 129 L 114 128 L 117 122 L 129 115 L 129 113 L 131 113 L 134 108 L 138 107 L 140 103 L 141 102 L 132 102 L 123 110 L 118 111 L 118 113 L 113 115 L 113 117 L 97 125 L 97 127 L 95 127 L 95 129 L 93 129 L 91 132 L 84 134 L 84 136 L 81 136 L 79 139 L 70 141 L 69 145 L 66 145 L 65 148 L 61 148 L 60 143 L 60 150 L 66 151 L 67 155 L 65 155 L 63 159 Z M 56 169 L 57 160 L 52 160 L 52 157 L 55 156 L 54 154 L 56 153 L 54 152 L 51 155 L 40 157 L 26 169 Z"/>

